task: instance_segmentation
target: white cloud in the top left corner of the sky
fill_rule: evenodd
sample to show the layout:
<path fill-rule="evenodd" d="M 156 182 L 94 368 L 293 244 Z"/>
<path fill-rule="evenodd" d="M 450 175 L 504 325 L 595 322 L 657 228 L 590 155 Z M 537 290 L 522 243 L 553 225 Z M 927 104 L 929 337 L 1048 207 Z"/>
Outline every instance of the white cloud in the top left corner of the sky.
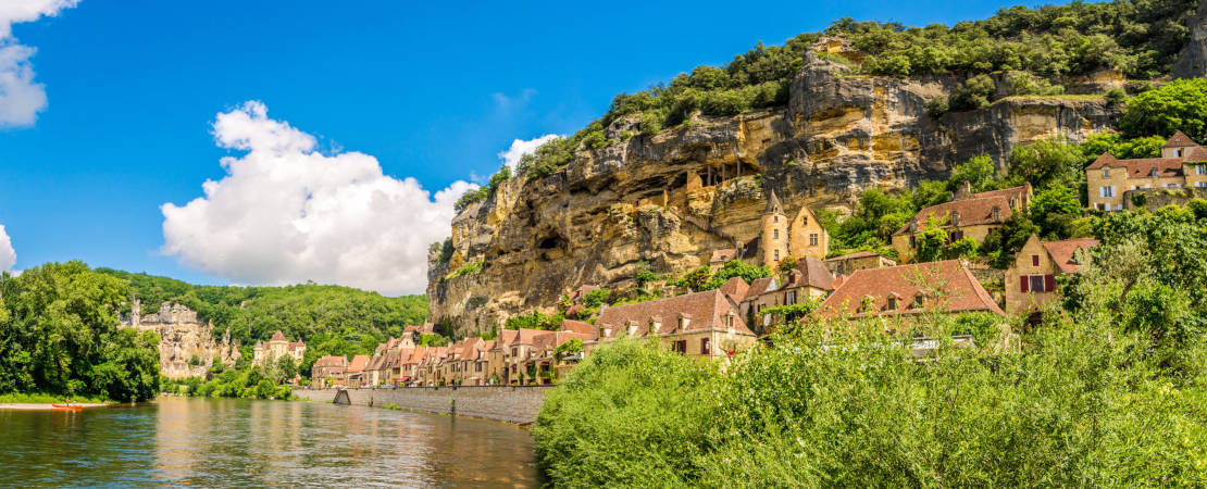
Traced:
<path fill-rule="evenodd" d="M 29 58 L 36 50 L 17 43 L 12 24 L 53 17 L 80 0 L 0 1 L 0 127 L 33 126 L 46 107 L 46 89 L 34 82 Z"/>

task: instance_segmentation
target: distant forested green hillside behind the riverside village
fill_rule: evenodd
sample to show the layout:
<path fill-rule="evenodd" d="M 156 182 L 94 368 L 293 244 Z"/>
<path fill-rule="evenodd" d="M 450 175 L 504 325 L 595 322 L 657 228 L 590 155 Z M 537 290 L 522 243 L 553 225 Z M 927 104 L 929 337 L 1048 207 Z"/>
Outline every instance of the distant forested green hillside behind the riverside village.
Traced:
<path fill-rule="evenodd" d="M 383 297 L 377 292 L 337 285 L 291 285 L 285 287 L 239 287 L 193 285 L 167 276 L 98 268 L 100 273 L 130 284 L 130 295 L 142 302 L 142 314 L 163 302 L 179 302 L 202 320 L 214 321 L 214 334 L 226 334 L 250 347 L 280 330 L 290 339 L 307 342 L 302 367 L 309 368 L 322 355 L 369 353 L 379 342 L 401 336 L 408 325 L 422 324 L 427 297 Z M 123 314 L 130 304 L 123 305 Z"/>

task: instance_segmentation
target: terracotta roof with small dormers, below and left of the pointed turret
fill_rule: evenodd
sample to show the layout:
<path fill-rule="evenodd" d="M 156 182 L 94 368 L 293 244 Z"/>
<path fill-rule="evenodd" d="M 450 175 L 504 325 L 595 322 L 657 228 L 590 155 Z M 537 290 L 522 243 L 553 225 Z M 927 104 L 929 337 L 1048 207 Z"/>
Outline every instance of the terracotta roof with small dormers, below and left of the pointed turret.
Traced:
<path fill-rule="evenodd" d="M 595 320 L 595 326 L 601 328 L 611 326 L 612 336 L 616 336 L 617 332 L 625 331 L 625 326 L 631 321 L 637 327 L 636 334 L 641 336 L 648 332 L 649 322 L 653 319 L 655 322 L 661 322 L 661 328 L 657 333 L 665 334 L 675 332 L 680 314 L 684 314 L 690 319 L 687 331 L 727 330 L 725 316 L 728 316 L 729 312 L 735 314 L 734 330 L 740 333 L 753 334 L 746 327 L 746 321 L 742 320 L 737 308 L 719 290 L 688 293 L 636 304 L 613 305 L 600 313 L 600 318 Z"/>

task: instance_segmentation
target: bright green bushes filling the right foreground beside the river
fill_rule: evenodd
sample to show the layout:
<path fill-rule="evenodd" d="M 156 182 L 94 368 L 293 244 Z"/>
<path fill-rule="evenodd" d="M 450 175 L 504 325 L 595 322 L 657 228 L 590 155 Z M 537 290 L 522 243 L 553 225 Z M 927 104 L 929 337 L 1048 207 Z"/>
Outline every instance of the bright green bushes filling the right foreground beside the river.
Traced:
<path fill-rule="evenodd" d="M 1202 487 L 1207 208 L 1095 231 L 1063 305 L 975 348 L 938 313 L 806 321 L 725 372 L 601 348 L 546 398 L 537 458 L 564 487 Z"/>

